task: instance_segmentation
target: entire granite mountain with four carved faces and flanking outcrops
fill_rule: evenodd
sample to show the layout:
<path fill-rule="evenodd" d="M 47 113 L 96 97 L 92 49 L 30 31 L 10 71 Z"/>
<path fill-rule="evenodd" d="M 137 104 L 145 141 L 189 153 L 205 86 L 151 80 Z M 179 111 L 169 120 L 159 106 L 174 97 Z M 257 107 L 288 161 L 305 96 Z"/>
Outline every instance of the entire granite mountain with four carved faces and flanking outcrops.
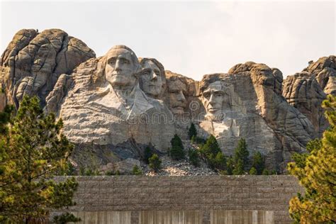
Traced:
<path fill-rule="evenodd" d="M 82 164 L 140 159 L 150 145 L 166 153 L 175 134 L 194 123 L 232 155 L 240 138 L 283 171 L 293 152 L 327 128 L 320 103 L 335 94 L 335 56 L 322 57 L 283 80 L 279 69 L 246 62 L 198 82 L 138 58 L 124 45 L 96 57 L 62 30 L 20 30 L 1 56 L 0 110 L 37 95 L 64 121 Z"/>

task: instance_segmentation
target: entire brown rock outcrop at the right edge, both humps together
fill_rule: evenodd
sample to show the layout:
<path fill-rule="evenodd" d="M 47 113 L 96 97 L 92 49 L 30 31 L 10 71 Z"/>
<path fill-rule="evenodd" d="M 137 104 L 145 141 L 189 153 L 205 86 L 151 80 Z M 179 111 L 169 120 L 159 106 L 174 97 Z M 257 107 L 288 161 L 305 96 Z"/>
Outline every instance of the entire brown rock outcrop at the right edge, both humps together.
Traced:
<path fill-rule="evenodd" d="M 327 128 L 321 103 L 327 94 L 336 94 L 335 56 L 320 57 L 309 62 L 303 72 L 288 76 L 284 81 L 282 94 L 287 101 L 298 108 L 313 123 L 318 136 Z"/>

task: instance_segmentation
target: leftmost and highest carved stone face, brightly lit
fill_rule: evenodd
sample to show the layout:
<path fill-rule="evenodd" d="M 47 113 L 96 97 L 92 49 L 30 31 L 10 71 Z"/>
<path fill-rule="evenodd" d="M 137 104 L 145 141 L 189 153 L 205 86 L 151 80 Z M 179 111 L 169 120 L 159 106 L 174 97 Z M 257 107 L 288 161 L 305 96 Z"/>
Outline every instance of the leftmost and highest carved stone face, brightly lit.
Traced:
<path fill-rule="evenodd" d="M 108 52 L 105 75 L 112 86 L 133 86 L 136 82 L 134 74 L 137 65 L 132 60 L 132 53 L 123 48 Z"/>

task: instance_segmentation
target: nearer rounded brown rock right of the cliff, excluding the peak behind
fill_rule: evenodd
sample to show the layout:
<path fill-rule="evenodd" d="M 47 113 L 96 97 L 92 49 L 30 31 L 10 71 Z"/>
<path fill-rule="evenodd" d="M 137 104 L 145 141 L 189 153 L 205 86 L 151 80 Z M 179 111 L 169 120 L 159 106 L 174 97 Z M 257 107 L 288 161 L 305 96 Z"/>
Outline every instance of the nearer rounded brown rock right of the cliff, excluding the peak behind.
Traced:
<path fill-rule="evenodd" d="M 315 76 L 309 72 L 299 72 L 288 76 L 284 82 L 283 95 L 289 104 L 307 116 L 313 123 L 316 133 L 321 135 L 328 125 L 321 107 L 326 94 Z"/>

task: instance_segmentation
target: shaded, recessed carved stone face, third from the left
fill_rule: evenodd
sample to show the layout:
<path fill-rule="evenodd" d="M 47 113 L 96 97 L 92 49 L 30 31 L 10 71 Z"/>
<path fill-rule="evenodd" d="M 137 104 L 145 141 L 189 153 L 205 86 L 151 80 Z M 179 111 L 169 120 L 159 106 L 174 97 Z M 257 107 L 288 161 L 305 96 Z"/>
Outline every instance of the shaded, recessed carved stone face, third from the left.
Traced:
<path fill-rule="evenodd" d="M 184 108 L 187 106 L 186 101 L 186 84 L 179 79 L 168 82 L 169 88 L 169 103 L 174 114 L 184 113 Z"/>

